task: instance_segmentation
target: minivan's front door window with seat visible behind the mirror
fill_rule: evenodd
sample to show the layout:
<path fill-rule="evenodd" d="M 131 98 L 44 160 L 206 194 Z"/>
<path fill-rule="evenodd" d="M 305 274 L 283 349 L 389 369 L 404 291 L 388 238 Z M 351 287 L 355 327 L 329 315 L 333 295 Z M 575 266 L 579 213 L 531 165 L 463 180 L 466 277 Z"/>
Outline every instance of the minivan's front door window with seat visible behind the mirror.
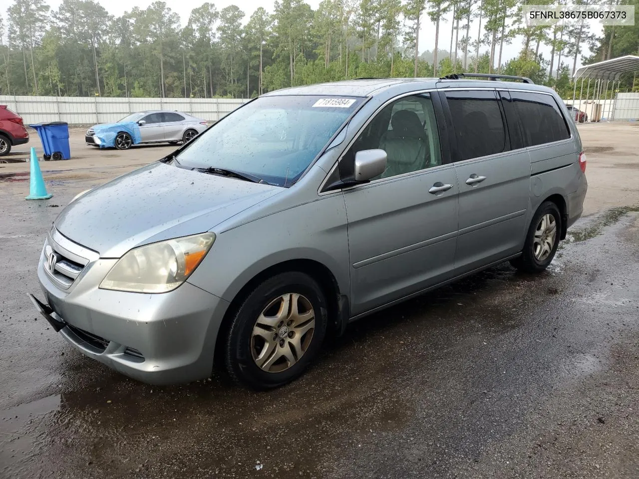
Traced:
<path fill-rule="evenodd" d="M 377 178 L 420 171 L 442 164 L 435 109 L 429 94 L 406 96 L 382 109 L 360 133 L 346 162 L 357 151 L 386 151 L 386 170 Z"/>

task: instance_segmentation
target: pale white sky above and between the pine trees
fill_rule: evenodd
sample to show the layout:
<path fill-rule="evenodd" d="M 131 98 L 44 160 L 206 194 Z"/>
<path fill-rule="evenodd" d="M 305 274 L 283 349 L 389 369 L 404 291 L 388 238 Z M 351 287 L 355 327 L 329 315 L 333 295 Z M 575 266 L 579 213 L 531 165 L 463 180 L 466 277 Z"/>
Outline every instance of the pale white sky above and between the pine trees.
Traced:
<path fill-rule="evenodd" d="M 106 8 L 109 13 L 112 15 L 122 15 L 125 11 L 131 10 L 134 6 L 139 6 L 144 9 L 147 8 L 153 0 L 97 0 L 98 3 L 102 4 L 104 8 Z M 189 19 L 190 11 L 193 8 L 196 8 L 203 4 L 203 0 L 165 0 L 167 6 L 171 8 L 171 10 L 175 11 L 180 15 L 182 25 L 184 26 Z M 321 0 L 306 0 L 306 3 L 311 5 L 311 8 L 315 10 L 319 6 L 319 2 Z M 0 0 L 0 12 L 4 19 L 6 19 L 6 10 L 13 2 L 10 0 Z M 52 10 L 56 10 L 61 3 L 61 0 L 49 0 L 47 2 Z M 231 4 L 236 4 L 239 6 L 245 13 L 246 17 L 244 19 L 244 23 L 246 23 L 249 19 L 249 16 L 253 11 L 255 11 L 259 6 L 263 6 L 266 10 L 272 12 L 273 11 L 273 1 L 272 0 L 212 0 L 212 3 L 215 4 L 217 10 L 222 10 L 222 8 L 229 6 Z M 449 17 L 452 16 L 449 15 Z M 446 22 L 440 22 L 440 34 L 439 34 L 439 45 L 440 49 L 449 49 L 450 47 L 450 18 Z M 475 20 L 476 22 L 477 20 Z M 475 32 L 471 34 L 474 36 L 477 34 L 477 23 L 471 25 L 471 32 Z M 601 34 L 603 31 L 602 27 L 598 24 L 593 24 L 591 28 L 592 33 L 596 33 L 597 35 Z M 461 38 L 461 31 L 460 31 Z M 504 45 L 504 51 L 502 53 L 502 62 L 511 59 L 513 57 L 518 56 L 521 50 L 522 42 L 520 38 L 515 38 L 510 45 Z M 584 51 L 582 54 L 588 55 L 587 45 L 583 45 Z M 423 52 L 424 50 L 433 50 L 435 48 L 435 24 L 430 21 L 428 15 L 424 15 L 422 17 L 422 26 L 419 31 L 419 51 Z M 487 47 L 484 47 L 484 50 L 487 50 Z M 543 53 L 544 58 L 550 59 L 550 47 L 546 45 L 542 45 L 539 49 L 541 53 Z M 577 67 L 581 65 L 581 59 L 577 59 Z M 556 62 L 555 62 L 556 63 Z M 572 66 L 572 61 L 567 61 L 570 66 Z"/>

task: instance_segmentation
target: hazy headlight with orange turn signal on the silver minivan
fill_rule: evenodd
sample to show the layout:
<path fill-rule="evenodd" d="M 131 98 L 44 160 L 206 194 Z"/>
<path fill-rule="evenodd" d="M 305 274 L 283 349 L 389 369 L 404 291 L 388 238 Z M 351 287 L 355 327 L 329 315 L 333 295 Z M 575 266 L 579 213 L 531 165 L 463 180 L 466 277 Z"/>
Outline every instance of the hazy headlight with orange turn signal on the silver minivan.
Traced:
<path fill-rule="evenodd" d="M 214 233 L 201 233 L 134 248 L 116 262 L 100 287 L 134 293 L 172 291 L 195 271 L 213 241 Z"/>

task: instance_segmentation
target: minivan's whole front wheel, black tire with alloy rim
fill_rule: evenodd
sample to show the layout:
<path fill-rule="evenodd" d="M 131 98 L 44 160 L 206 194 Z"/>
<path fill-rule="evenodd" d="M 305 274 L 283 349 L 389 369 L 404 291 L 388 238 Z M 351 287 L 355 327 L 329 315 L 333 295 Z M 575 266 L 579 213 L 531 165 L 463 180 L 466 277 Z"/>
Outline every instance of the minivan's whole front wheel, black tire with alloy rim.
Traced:
<path fill-rule="evenodd" d="M 301 315 L 291 312 L 291 304 Z M 327 303 L 319 285 L 298 271 L 281 273 L 258 285 L 233 316 L 226 369 L 236 383 L 254 390 L 282 386 L 317 356 L 326 330 Z"/>

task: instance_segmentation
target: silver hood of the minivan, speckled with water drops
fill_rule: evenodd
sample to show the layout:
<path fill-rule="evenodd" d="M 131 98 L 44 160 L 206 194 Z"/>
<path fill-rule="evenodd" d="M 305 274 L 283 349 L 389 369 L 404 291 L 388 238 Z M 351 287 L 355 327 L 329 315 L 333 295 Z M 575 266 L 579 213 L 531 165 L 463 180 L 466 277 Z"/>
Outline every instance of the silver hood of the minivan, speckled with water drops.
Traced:
<path fill-rule="evenodd" d="M 72 201 L 54 224 L 100 257 L 117 258 L 146 243 L 210 231 L 281 191 L 156 162 Z"/>

